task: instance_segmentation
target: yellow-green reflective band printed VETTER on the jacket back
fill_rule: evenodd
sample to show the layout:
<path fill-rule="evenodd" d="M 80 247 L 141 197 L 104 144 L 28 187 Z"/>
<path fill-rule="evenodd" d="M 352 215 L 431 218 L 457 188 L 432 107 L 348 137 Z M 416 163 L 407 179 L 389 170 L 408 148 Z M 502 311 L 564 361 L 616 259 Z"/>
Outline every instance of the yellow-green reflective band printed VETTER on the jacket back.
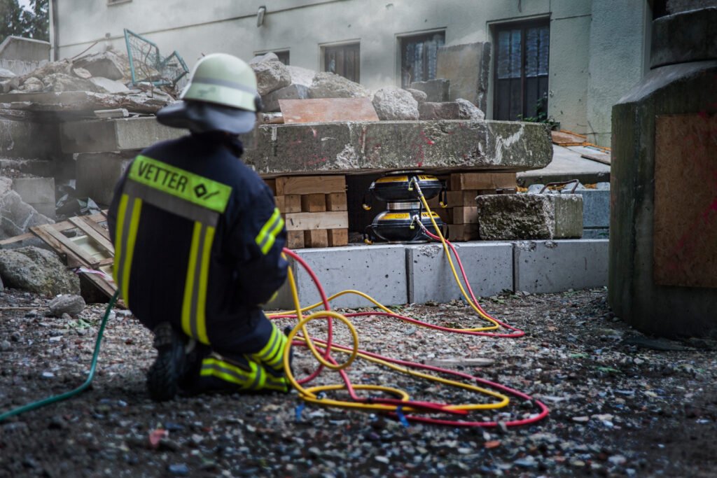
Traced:
<path fill-rule="evenodd" d="M 232 188 L 212 179 L 170 166 L 147 156 L 137 156 L 132 163 L 130 179 L 158 189 L 192 204 L 223 213 Z"/>

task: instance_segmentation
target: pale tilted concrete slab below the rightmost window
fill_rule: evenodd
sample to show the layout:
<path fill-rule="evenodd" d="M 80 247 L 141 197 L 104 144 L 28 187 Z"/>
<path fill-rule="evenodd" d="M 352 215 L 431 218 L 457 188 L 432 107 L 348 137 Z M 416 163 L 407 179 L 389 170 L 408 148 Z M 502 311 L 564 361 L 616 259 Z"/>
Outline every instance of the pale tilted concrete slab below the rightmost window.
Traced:
<path fill-rule="evenodd" d="M 580 153 L 553 145 L 553 161 L 545 168 L 523 171 L 516 175 L 518 186 L 546 184 L 579 179 L 583 184 L 610 181 L 610 166 L 581 158 Z"/>

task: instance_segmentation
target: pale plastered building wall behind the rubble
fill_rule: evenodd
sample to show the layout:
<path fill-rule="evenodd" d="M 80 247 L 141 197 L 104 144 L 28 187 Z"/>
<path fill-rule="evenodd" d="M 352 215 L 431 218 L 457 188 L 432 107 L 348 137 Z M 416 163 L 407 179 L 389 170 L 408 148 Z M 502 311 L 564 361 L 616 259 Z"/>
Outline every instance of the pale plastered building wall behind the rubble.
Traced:
<path fill-rule="evenodd" d="M 447 45 L 492 42 L 498 23 L 551 19 L 549 114 L 561 128 L 588 133 L 589 87 L 612 90 L 614 79 L 602 75 L 589 81 L 592 0 L 130 0 L 114 5 L 105 0 L 53 0 L 59 57 L 72 57 L 110 46 L 124 50 L 123 28 L 158 44 L 162 54 L 177 50 L 191 68 L 202 54 L 227 52 L 250 59 L 256 52 L 288 49 L 290 64 L 323 70 L 320 47 L 360 42 L 361 83 L 371 89 L 400 84 L 398 37 L 445 30 Z M 602 1 L 602 0 L 601 0 Z M 638 0 L 609 0 L 612 16 L 597 9 L 600 21 L 621 16 L 620 9 Z M 267 7 L 257 27 L 257 10 Z M 607 16 L 607 18 L 606 18 Z M 641 27 L 642 28 L 642 27 Z M 640 30 L 641 31 L 641 30 Z M 597 37 L 596 37 L 597 38 Z M 609 56 L 610 49 L 599 52 Z M 633 55 L 635 44 L 615 39 L 615 54 Z M 92 51 L 92 50 L 90 50 Z M 601 59 L 596 63 L 604 63 Z M 491 64 L 491 68 L 493 65 Z M 630 72 L 630 84 L 639 80 Z M 493 82 L 493 75 L 490 75 Z M 599 85 L 598 85 L 599 83 Z M 492 118 L 492 88 L 488 118 Z M 620 95 L 617 95 L 619 97 Z M 594 117 L 609 115 L 612 102 L 595 97 Z M 612 99 L 610 99 L 612 101 Z M 613 101 L 614 102 L 614 101 Z M 602 125 L 602 123 L 601 123 Z M 602 128 L 602 126 L 601 126 Z"/>

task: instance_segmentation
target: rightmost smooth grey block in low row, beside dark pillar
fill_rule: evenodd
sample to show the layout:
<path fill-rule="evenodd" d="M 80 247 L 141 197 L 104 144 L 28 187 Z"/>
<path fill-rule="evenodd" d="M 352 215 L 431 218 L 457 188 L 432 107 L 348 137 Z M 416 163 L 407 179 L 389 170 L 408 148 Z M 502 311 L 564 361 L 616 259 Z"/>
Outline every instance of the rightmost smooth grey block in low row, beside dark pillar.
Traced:
<path fill-rule="evenodd" d="M 607 239 L 521 241 L 513 252 L 513 290 L 561 292 L 607 286 Z"/>

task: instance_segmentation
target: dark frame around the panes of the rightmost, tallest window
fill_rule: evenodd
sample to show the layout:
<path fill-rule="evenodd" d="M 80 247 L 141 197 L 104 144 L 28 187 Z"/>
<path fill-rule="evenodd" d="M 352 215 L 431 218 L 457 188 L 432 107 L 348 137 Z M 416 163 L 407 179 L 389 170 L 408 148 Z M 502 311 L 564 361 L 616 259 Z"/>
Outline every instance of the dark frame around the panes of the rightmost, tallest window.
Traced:
<path fill-rule="evenodd" d="M 523 21 L 511 21 L 508 23 L 500 23 L 500 24 L 493 24 L 492 25 L 492 34 L 493 34 L 493 119 L 494 120 L 508 120 L 508 121 L 524 121 L 524 118 L 530 118 L 531 116 L 537 115 L 537 110 L 534 110 L 531 108 L 533 105 L 527 104 L 526 99 L 526 82 L 528 77 L 526 77 L 526 32 L 528 29 L 535 28 L 535 27 L 546 27 L 548 29 L 548 55 L 546 58 L 546 64 L 547 64 L 547 70 L 545 75 L 536 75 L 536 78 L 544 77 L 546 78 L 546 81 L 548 82 L 548 85 L 546 85 L 546 93 L 549 92 L 549 82 L 550 82 L 550 38 L 551 38 L 551 19 L 549 17 L 543 17 L 543 18 L 537 18 L 537 19 L 526 19 Z M 521 102 L 521 113 L 518 115 L 518 119 L 511 119 L 510 118 L 510 106 L 508 107 L 508 118 L 500 118 L 500 111 L 499 111 L 499 97 L 500 97 L 500 88 L 499 88 L 499 82 L 500 79 L 498 77 L 498 69 L 499 69 L 499 58 L 498 53 L 500 52 L 500 44 L 499 44 L 499 35 L 501 32 L 510 31 L 520 29 L 521 30 L 521 87 L 520 87 L 520 102 Z M 538 80 L 539 82 L 540 80 Z M 537 101 L 540 101 L 541 98 L 538 97 Z M 548 95 L 545 96 L 545 103 L 543 105 L 544 113 L 546 115 L 548 114 L 548 106 L 549 106 L 549 100 Z"/>

